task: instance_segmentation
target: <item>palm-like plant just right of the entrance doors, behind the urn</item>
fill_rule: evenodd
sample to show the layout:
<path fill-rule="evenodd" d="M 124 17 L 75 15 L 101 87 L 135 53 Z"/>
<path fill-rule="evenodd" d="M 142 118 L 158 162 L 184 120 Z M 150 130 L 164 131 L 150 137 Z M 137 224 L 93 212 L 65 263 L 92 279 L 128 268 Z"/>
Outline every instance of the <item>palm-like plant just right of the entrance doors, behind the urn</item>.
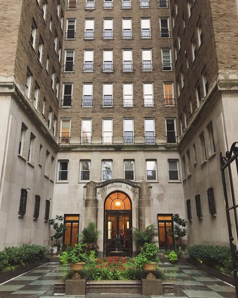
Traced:
<path fill-rule="evenodd" d="M 154 237 L 158 237 L 158 229 L 154 224 L 148 225 L 145 230 L 138 229 L 136 227 L 132 227 L 132 235 L 135 241 L 135 245 L 137 250 L 145 243 L 154 243 Z"/>

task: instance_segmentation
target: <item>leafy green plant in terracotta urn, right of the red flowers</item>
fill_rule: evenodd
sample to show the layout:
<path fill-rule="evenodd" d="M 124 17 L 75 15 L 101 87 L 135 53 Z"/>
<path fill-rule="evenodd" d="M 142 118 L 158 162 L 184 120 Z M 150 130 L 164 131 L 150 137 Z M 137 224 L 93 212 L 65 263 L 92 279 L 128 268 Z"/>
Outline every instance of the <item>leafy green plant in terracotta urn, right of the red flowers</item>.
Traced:
<path fill-rule="evenodd" d="M 158 252 L 159 248 L 155 243 L 145 243 L 135 258 L 135 265 L 137 267 L 143 267 L 148 272 L 147 279 L 155 279 L 153 272 L 157 268 L 157 263 L 160 262 L 157 256 Z"/>

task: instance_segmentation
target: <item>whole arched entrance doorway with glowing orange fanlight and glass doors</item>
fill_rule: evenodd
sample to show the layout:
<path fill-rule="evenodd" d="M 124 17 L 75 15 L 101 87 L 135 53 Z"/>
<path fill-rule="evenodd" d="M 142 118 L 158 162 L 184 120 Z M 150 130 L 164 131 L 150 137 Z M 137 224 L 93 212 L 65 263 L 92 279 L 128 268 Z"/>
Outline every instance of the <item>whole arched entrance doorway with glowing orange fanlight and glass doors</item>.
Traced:
<path fill-rule="evenodd" d="M 123 251 L 132 256 L 131 201 L 122 192 L 113 192 L 104 203 L 104 254 Z"/>

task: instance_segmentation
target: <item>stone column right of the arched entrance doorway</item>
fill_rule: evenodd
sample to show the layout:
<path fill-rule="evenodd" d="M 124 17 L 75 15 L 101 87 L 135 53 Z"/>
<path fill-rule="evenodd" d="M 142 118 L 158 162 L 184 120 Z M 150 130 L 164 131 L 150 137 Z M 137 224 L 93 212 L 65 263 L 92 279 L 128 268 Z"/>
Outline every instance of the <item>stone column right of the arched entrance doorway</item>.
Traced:
<path fill-rule="evenodd" d="M 151 218 L 151 188 L 152 186 L 142 181 L 139 188 L 139 229 L 145 229 L 152 224 Z"/>

